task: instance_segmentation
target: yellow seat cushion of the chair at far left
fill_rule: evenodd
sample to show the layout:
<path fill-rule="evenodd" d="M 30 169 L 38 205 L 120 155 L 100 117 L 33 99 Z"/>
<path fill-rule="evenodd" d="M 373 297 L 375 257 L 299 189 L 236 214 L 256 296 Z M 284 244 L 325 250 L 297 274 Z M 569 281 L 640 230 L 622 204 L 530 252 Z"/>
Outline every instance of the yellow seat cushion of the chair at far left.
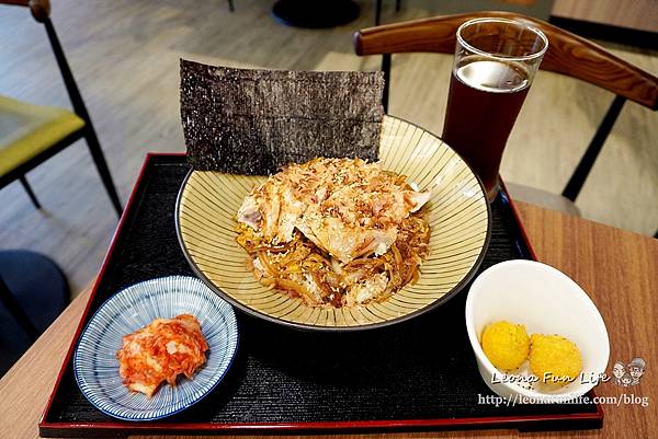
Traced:
<path fill-rule="evenodd" d="M 75 113 L 0 95 L 0 176 L 82 128 Z"/>

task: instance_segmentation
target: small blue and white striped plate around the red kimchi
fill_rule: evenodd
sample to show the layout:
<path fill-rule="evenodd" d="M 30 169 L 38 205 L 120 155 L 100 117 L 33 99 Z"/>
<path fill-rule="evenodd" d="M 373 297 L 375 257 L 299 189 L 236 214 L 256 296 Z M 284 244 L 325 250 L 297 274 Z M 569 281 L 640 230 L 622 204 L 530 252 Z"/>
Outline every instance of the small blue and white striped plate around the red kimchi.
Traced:
<path fill-rule="evenodd" d="M 175 386 L 163 383 L 149 400 L 123 384 L 116 351 L 122 337 L 157 317 L 193 314 L 209 349 L 194 379 L 179 377 Z M 207 395 L 226 374 L 238 347 L 232 308 L 201 280 L 185 276 L 151 279 L 128 287 L 91 317 L 73 357 L 76 381 L 82 394 L 101 412 L 124 420 L 154 420 L 181 412 Z"/>

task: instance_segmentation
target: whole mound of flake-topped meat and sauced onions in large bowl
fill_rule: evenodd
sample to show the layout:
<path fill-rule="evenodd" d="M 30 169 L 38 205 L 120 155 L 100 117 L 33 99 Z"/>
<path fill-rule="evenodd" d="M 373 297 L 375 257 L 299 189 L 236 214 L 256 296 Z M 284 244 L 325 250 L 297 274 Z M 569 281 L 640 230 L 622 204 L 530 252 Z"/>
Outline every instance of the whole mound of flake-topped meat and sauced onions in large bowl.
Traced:
<path fill-rule="evenodd" d="M 251 190 L 236 240 L 258 281 L 310 307 L 381 302 L 419 276 L 430 197 L 378 163 L 315 159 Z"/>

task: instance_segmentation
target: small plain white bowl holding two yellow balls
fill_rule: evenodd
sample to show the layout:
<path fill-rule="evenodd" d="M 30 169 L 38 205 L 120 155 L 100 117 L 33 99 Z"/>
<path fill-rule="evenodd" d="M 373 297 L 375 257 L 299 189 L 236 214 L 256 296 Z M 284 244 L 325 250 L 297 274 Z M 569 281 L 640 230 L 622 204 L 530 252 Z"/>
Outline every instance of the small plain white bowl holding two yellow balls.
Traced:
<path fill-rule="evenodd" d="M 485 355 L 480 336 L 487 324 L 507 320 L 527 334 L 558 334 L 578 346 L 582 372 L 556 388 L 533 382 L 527 361 L 517 371 L 498 370 Z M 610 342 L 599 310 L 574 280 L 534 261 L 507 261 L 483 272 L 466 299 L 466 328 L 479 372 L 496 394 L 514 403 L 559 403 L 583 395 L 605 372 Z"/>

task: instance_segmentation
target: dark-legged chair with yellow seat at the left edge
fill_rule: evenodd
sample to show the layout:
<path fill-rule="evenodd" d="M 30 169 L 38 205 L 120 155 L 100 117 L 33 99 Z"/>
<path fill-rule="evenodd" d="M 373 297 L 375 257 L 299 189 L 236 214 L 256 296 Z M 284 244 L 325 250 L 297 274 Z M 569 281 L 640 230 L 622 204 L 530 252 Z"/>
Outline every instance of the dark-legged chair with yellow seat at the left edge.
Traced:
<path fill-rule="evenodd" d="M 123 209 L 103 151 L 49 19 L 49 1 L 0 0 L 0 3 L 27 7 L 34 19 L 44 24 L 73 107 L 73 112 L 70 112 L 59 107 L 31 105 L 0 95 L 0 188 L 19 180 L 36 208 L 39 208 L 25 173 L 84 138 L 112 205 L 121 216 Z"/>

